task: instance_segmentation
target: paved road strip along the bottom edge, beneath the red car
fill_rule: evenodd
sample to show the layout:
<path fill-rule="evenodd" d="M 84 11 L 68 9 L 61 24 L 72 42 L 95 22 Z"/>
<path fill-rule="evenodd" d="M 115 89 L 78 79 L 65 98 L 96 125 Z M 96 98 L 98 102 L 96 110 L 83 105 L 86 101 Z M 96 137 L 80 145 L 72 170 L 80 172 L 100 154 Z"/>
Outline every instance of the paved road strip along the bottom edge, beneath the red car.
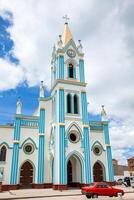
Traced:
<path fill-rule="evenodd" d="M 47 197 L 47 198 L 34 198 L 35 200 L 88 200 L 86 196 L 81 195 L 81 196 L 67 196 L 67 197 Z M 33 198 L 28 198 L 28 200 L 34 200 Z M 23 200 L 23 199 L 21 199 Z M 26 200 L 26 199 L 25 199 Z M 125 194 L 122 198 L 119 197 L 99 197 L 99 198 L 94 198 L 94 200 L 134 200 L 134 193 L 128 193 Z"/>

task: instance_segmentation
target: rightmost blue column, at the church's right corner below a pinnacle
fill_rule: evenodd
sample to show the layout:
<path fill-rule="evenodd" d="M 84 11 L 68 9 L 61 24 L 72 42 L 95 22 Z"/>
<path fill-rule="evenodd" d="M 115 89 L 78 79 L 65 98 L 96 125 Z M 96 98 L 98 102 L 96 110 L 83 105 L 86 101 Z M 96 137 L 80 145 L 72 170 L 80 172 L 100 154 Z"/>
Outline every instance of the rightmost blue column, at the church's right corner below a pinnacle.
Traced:
<path fill-rule="evenodd" d="M 105 144 L 106 144 L 109 181 L 114 181 L 113 165 L 112 165 L 112 152 L 111 152 L 111 145 L 110 145 L 110 139 L 109 139 L 108 122 L 103 122 L 103 129 L 104 129 Z"/>

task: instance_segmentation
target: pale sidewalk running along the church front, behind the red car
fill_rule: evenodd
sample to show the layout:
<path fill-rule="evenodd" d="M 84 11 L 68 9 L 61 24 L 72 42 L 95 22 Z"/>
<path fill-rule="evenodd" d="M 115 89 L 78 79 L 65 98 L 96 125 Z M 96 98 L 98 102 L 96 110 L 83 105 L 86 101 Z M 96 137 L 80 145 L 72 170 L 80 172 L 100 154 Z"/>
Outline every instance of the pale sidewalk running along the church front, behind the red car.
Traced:
<path fill-rule="evenodd" d="M 125 193 L 134 193 L 134 188 L 122 188 Z M 23 189 L 23 190 L 10 190 L 6 192 L 0 193 L 0 199 L 29 199 L 29 198 L 47 198 L 47 197 L 62 197 L 62 196 L 80 196 L 81 190 L 80 189 L 72 189 L 72 190 L 52 190 L 52 189 Z"/>

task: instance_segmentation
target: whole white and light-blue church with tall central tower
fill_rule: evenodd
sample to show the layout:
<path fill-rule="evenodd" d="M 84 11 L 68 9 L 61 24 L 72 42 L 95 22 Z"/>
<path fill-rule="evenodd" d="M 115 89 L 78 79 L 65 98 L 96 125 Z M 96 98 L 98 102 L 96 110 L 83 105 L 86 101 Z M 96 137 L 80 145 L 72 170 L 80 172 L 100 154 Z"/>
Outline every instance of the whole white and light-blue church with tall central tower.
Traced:
<path fill-rule="evenodd" d="M 39 88 L 31 116 L 16 105 L 14 124 L 0 125 L 0 182 L 3 190 L 65 190 L 94 181 L 114 181 L 109 122 L 89 121 L 81 41 L 75 43 L 68 22 L 54 45 L 51 90 Z"/>

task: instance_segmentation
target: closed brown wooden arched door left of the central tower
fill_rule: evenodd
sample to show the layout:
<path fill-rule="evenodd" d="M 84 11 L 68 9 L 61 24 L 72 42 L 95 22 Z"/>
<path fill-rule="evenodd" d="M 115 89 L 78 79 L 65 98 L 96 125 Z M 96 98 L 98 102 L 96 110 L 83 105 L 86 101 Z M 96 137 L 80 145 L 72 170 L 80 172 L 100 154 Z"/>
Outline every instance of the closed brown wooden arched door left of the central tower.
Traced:
<path fill-rule="evenodd" d="M 33 183 L 33 166 L 29 161 L 26 161 L 20 169 L 20 187 L 30 188 Z"/>

